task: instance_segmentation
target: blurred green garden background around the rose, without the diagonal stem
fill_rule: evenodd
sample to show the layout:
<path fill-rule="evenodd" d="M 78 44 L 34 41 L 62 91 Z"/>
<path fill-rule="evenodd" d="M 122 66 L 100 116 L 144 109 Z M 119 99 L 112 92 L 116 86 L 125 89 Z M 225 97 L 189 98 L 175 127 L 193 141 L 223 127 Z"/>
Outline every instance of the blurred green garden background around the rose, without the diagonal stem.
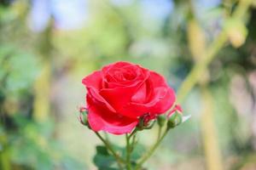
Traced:
<path fill-rule="evenodd" d="M 96 169 L 101 142 L 78 120 L 82 78 L 126 60 L 160 72 L 177 90 L 236 6 L 236 0 L 1 0 L 0 169 Z M 255 2 L 243 21 L 230 22 L 229 40 L 184 99 L 191 119 L 167 135 L 148 169 L 256 169 Z M 140 134 L 141 143 L 152 144 L 155 133 Z"/>

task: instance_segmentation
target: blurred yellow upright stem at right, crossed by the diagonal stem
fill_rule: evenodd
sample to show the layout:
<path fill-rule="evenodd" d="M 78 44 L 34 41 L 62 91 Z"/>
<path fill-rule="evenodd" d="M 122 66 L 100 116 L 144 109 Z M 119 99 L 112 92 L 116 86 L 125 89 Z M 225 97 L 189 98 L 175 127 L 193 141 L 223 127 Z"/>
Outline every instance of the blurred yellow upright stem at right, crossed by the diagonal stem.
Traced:
<path fill-rule="evenodd" d="M 191 0 L 190 0 L 191 3 Z M 192 4 L 192 3 L 191 3 Z M 190 8 L 193 8 L 190 5 Z M 194 11 L 194 10 L 191 10 Z M 193 15 L 193 14 L 192 14 Z M 198 20 L 193 16 L 189 20 L 188 26 L 188 40 L 189 49 L 195 63 L 204 59 L 206 51 L 206 38 L 203 29 L 201 28 Z M 223 43 L 223 42 L 221 42 Z M 221 44 L 220 44 L 221 45 Z M 216 49 L 218 51 L 218 49 Z M 213 54 L 212 54 L 213 56 Z M 209 170 L 222 170 L 221 154 L 218 147 L 218 137 L 215 131 L 214 117 L 212 115 L 212 98 L 207 91 L 208 72 L 201 73 L 200 85 L 203 91 L 203 105 L 205 111 L 201 114 L 201 131 L 203 135 L 203 143 L 205 144 L 205 156 L 207 160 L 207 169 Z"/>

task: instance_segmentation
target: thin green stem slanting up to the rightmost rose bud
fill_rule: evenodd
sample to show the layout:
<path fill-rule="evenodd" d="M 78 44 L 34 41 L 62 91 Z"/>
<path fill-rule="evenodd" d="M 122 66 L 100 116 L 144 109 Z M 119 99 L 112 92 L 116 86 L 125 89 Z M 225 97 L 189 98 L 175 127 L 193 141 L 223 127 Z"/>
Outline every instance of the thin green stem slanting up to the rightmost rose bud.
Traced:
<path fill-rule="evenodd" d="M 136 170 L 140 169 L 145 161 L 148 160 L 150 156 L 154 153 L 154 150 L 159 146 L 161 141 L 166 137 L 166 134 L 168 133 L 169 128 L 166 128 L 165 133 L 156 141 L 156 143 L 148 150 L 148 152 L 138 161 L 137 166 L 135 167 Z"/>

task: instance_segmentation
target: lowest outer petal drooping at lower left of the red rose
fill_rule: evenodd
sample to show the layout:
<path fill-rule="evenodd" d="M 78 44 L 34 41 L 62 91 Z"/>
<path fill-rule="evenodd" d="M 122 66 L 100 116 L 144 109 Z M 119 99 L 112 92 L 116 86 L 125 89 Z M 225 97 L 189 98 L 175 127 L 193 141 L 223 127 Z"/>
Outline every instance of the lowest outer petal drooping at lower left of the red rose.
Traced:
<path fill-rule="evenodd" d="M 88 122 L 94 131 L 106 131 L 113 134 L 131 133 L 138 120 L 120 116 L 108 110 L 104 105 L 97 105 L 90 97 L 88 103 Z"/>

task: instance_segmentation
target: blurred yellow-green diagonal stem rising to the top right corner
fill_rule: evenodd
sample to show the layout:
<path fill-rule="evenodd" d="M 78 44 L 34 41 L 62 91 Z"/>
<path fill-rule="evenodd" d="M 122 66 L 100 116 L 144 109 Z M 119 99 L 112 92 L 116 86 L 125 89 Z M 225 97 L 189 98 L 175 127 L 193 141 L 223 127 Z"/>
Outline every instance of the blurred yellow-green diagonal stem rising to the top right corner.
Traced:
<path fill-rule="evenodd" d="M 235 12 L 232 14 L 231 18 L 236 18 L 242 20 L 242 17 L 247 13 L 247 9 L 250 7 L 252 0 L 241 0 L 236 7 Z M 183 102 L 183 99 L 189 94 L 190 90 L 198 82 L 201 74 L 207 69 L 212 59 L 216 56 L 218 51 L 224 47 L 224 43 L 227 42 L 228 36 L 223 30 L 218 34 L 218 37 L 210 44 L 203 54 L 201 60 L 199 60 L 192 71 L 190 71 L 189 76 L 184 80 L 181 87 L 177 92 L 177 100 L 179 103 Z"/>

